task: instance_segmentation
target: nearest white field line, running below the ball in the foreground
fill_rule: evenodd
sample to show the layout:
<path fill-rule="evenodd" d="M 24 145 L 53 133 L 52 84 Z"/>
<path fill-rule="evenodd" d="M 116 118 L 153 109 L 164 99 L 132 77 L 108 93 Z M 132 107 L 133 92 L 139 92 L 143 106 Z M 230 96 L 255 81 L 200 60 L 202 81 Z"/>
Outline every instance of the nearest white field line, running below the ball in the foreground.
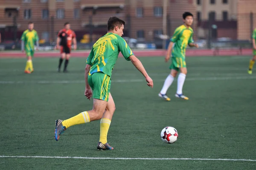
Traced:
<path fill-rule="evenodd" d="M 48 159 L 115 159 L 115 160 L 199 160 L 199 161 L 256 161 L 254 159 L 207 159 L 207 158 L 108 158 L 72 156 L 0 156 L 0 158 L 48 158 Z"/>

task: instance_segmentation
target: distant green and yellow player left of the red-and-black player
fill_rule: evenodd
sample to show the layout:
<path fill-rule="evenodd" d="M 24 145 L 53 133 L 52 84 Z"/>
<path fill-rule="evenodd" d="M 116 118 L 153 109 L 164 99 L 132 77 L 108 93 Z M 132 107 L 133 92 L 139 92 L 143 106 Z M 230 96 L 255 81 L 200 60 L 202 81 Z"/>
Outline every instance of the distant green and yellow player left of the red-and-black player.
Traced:
<path fill-rule="evenodd" d="M 30 74 L 34 71 L 33 64 L 32 64 L 32 57 L 34 56 L 34 45 L 36 42 L 37 49 L 39 47 L 39 39 L 37 31 L 34 29 L 34 23 L 29 22 L 28 29 L 23 32 L 21 36 L 21 51 L 26 52 L 27 62 L 24 73 Z"/>

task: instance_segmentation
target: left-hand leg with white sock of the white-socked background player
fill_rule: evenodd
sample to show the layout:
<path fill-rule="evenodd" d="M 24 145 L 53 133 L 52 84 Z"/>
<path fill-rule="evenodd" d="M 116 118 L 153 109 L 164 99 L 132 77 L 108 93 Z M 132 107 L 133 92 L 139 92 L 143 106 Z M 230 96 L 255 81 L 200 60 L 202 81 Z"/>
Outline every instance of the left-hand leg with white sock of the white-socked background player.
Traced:
<path fill-rule="evenodd" d="M 170 74 L 168 75 L 168 77 L 166 78 L 164 84 L 163 84 L 163 88 L 160 91 L 160 93 L 158 94 L 159 97 L 165 99 L 166 101 L 170 101 L 171 99 L 166 96 L 166 92 L 168 90 L 168 88 L 172 85 L 173 80 L 175 79 L 175 77 L 177 76 L 177 71 L 172 69 Z"/>

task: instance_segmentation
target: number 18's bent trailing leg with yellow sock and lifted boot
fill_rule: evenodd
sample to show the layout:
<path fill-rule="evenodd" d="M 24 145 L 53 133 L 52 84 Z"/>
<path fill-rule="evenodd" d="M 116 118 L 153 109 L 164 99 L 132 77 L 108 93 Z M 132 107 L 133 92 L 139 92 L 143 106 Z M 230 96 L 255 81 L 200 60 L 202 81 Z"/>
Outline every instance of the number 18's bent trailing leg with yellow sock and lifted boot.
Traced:
<path fill-rule="evenodd" d="M 92 122 L 94 120 L 102 119 L 103 113 L 105 112 L 106 101 L 100 100 L 100 99 L 93 99 L 93 109 L 90 111 L 84 111 L 79 113 L 76 116 L 71 117 L 67 120 L 61 120 L 58 119 L 55 121 L 55 140 L 58 141 L 60 138 L 60 135 L 73 125 L 80 125 L 88 122 Z"/>

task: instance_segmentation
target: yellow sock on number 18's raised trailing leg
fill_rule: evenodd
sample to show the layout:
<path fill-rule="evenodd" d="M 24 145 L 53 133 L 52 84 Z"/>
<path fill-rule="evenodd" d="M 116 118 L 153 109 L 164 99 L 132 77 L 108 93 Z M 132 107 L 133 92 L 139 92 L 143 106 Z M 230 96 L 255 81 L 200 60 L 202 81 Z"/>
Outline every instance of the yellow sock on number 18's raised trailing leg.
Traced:
<path fill-rule="evenodd" d="M 71 117 L 70 119 L 64 120 L 62 122 L 62 125 L 66 128 L 73 126 L 73 125 L 79 125 L 83 123 L 90 122 L 90 117 L 87 111 L 79 113 L 78 115 Z"/>

